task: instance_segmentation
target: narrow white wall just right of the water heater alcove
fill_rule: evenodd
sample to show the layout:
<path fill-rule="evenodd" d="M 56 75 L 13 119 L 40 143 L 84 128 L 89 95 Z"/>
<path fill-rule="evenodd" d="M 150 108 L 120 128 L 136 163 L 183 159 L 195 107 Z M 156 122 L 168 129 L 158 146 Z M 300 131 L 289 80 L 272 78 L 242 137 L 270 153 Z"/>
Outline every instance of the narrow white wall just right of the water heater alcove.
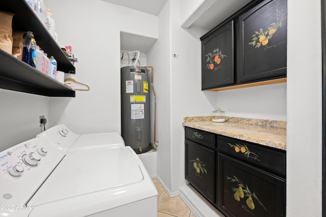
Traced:
<path fill-rule="evenodd" d="M 158 15 L 158 39 L 147 52 L 153 66 L 156 101 L 157 178 L 171 191 L 171 30 L 170 1 Z"/>

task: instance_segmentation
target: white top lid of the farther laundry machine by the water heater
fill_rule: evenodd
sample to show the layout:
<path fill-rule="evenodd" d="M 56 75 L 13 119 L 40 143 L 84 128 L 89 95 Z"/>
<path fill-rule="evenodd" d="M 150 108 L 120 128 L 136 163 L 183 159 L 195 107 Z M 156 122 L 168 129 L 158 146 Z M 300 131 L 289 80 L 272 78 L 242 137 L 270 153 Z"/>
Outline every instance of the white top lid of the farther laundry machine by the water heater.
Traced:
<path fill-rule="evenodd" d="M 125 144 L 118 132 L 89 133 L 80 135 L 71 146 L 70 151 L 87 150 L 103 146 L 121 147 L 125 146 Z"/>

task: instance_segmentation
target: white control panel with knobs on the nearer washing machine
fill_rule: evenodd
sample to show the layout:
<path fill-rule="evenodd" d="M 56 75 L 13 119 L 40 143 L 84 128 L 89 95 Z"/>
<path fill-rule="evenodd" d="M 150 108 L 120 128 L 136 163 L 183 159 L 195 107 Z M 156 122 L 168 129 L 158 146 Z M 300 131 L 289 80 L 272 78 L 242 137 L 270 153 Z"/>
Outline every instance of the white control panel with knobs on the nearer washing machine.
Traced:
<path fill-rule="evenodd" d="M 46 138 L 0 152 L 0 204 L 26 204 L 65 155 Z"/>

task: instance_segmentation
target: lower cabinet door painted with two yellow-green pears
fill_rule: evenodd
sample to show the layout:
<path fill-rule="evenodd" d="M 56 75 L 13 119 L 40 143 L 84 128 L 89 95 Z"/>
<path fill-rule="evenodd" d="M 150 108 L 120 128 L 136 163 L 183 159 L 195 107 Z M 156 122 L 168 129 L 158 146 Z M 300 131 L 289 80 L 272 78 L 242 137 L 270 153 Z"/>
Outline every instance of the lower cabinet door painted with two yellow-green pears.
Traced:
<path fill-rule="evenodd" d="M 285 216 L 285 180 L 218 154 L 219 209 L 227 216 Z M 217 193 L 216 193 L 217 194 Z"/>

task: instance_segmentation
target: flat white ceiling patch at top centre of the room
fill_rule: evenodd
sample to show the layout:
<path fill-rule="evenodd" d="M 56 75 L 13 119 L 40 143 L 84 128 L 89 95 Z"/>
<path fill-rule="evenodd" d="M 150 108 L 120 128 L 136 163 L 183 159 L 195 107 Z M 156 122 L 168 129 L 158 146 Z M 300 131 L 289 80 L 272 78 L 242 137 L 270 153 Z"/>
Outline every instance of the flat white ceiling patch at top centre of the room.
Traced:
<path fill-rule="evenodd" d="M 157 16 L 168 0 L 102 0 Z"/>

